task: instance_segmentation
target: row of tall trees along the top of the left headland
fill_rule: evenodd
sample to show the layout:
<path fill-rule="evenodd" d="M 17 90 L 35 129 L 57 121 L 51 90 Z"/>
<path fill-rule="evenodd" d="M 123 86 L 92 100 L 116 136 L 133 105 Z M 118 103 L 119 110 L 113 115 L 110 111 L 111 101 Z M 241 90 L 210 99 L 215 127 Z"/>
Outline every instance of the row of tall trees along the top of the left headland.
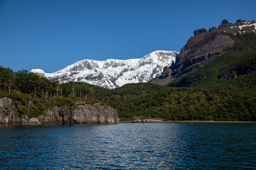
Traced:
<path fill-rule="evenodd" d="M 38 76 L 22 69 L 14 72 L 10 68 L 0 66 L 0 88 L 2 91 L 21 92 L 31 94 L 34 98 L 45 98 L 48 100 L 53 97 L 75 96 L 87 98 L 90 94 L 89 86 L 84 86 L 82 83 L 65 83 L 60 84 L 55 79 L 47 79 L 46 77 Z"/>

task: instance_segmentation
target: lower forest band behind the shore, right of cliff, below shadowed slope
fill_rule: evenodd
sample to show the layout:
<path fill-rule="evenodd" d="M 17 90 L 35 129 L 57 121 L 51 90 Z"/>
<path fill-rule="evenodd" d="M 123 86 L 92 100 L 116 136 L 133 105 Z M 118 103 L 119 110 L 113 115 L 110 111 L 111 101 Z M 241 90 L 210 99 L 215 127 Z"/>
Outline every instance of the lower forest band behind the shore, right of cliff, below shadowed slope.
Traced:
<path fill-rule="evenodd" d="M 165 120 L 256 121 L 256 73 L 213 86 L 169 87 L 127 84 L 95 97 L 115 108 L 119 117 L 164 118 Z"/>

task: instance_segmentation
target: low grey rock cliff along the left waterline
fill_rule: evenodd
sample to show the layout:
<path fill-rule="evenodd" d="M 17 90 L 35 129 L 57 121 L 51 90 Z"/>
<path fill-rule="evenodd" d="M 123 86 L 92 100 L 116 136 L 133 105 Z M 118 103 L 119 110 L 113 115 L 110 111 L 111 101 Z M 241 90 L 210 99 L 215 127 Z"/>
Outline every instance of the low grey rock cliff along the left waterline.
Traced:
<path fill-rule="evenodd" d="M 21 118 L 20 118 L 21 117 Z M 0 123 L 21 124 L 71 124 L 71 123 L 119 123 L 117 111 L 97 103 L 94 105 L 53 106 L 37 118 L 18 115 L 11 98 L 0 98 Z"/>

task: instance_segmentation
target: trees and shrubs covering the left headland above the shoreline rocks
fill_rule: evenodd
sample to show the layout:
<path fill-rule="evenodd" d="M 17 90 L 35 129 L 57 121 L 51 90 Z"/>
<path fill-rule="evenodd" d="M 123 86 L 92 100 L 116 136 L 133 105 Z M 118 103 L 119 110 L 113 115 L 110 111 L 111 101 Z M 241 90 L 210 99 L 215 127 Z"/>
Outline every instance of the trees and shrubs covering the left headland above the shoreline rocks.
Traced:
<path fill-rule="evenodd" d="M 27 70 L 13 72 L 0 67 L 0 97 L 14 99 L 19 115 L 29 118 L 43 113 L 50 106 L 74 106 L 76 103 L 93 101 L 92 88 L 82 83 L 60 84 Z"/>

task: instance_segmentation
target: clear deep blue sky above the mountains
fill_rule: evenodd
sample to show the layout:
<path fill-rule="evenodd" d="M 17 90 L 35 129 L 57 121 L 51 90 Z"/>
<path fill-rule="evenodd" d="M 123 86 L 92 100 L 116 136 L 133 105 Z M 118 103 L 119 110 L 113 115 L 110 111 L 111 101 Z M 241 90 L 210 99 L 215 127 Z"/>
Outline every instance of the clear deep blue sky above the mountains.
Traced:
<path fill-rule="evenodd" d="M 176 50 L 198 28 L 256 20 L 256 1 L 0 0 L 0 65 L 55 72 L 78 60 Z"/>

